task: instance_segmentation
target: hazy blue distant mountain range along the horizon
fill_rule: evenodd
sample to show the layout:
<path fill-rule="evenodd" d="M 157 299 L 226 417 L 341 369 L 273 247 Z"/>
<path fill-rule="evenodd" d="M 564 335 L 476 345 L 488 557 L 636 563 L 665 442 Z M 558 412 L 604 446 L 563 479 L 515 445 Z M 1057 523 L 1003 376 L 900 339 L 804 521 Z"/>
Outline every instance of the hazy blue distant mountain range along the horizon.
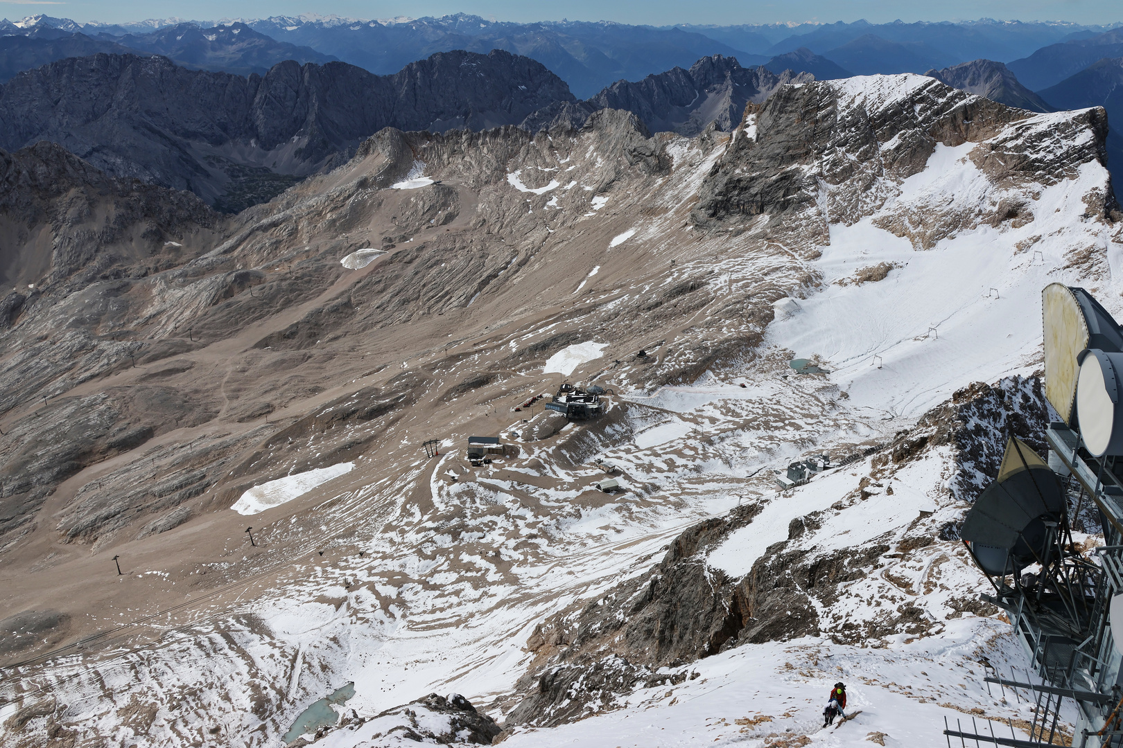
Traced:
<path fill-rule="evenodd" d="M 214 31 L 214 27 L 222 30 Z M 264 74 L 273 64 L 291 58 L 320 64 L 339 59 L 372 73 L 390 74 L 437 52 L 506 49 L 544 64 L 566 81 L 578 98 L 593 96 L 617 81 L 639 81 L 674 67 L 687 70 L 697 59 L 713 55 L 736 57 L 746 67 L 765 65 L 774 73 L 794 70 L 819 79 L 923 73 L 977 58 L 1010 62 L 1048 45 L 1083 44 L 1111 30 L 1105 26 L 987 19 L 660 28 L 585 21 L 512 24 L 464 13 L 390 20 L 277 16 L 220 24 L 165 19 L 83 25 L 47 16 L 0 21 L 0 36 L 57 38 L 83 34 L 139 52 L 162 54 L 184 66 L 228 73 Z M 1119 54 L 1104 54 L 1096 59 Z M 818 57 L 809 59 L 807 55 Z M 39 64 L 51 62 L 43 56 L 38 59 Z M 1095 59 L 1060 77 L 1092 62 Z M 1016 66 L 1011 70 L 1024 77 Z M 1038 87 L 1033 82 L 1023 82 L 1030 89 Z"/>

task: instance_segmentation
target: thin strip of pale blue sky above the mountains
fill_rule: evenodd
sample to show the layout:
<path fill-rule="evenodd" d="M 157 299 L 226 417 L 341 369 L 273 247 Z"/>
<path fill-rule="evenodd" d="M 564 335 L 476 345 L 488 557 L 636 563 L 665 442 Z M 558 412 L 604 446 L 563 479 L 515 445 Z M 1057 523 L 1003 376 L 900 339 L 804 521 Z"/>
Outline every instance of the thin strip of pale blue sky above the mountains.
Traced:
<path fill-rule="evenodd" d="M 442 16 L 467 12 L 496 20 L 613 20 L 626 24 L 769 24 L 776 21 L 955 20 L 980 17 L 1020 20 L 1069 20 L 1104 24 L 1123 20 L 1120 0 L 784 0 L 782 2 L 681 0 L 0 0 L 0 16 L 21 18 L 47 13 L 77 21 L 127 21 L 145 18 L 212 20 L 261 18 L 303 12 L 357 18 Z"/>

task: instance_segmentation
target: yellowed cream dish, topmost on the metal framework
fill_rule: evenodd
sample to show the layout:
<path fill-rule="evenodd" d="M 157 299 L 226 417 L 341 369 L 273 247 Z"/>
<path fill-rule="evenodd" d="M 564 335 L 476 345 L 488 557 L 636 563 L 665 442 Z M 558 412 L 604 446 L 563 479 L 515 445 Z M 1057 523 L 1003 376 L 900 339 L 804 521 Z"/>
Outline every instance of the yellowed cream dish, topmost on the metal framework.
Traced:
<path fill-rule="evenodd" d="M 1080 351 L 1117 353 L 1123 334 L 1112 315 L 1083 288 L 1051 283 L 1041 292 L 1044 326 L 1046 399 L 1069 426 L 1076 426 L 1076 384 Z"/>

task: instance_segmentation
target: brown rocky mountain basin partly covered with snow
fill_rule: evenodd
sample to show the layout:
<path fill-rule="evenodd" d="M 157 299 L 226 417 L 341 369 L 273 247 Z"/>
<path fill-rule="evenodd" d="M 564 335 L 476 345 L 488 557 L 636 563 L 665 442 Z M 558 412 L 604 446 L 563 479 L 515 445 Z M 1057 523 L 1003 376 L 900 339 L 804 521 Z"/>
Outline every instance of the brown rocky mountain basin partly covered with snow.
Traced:
<path fill-rule="evenodd" d="M 6 606 L 69 618 L 28 612 L 51 643 L 4 639 L 7 662 L 104 635 L 4 671 L 6 742 L 277 745 L 348 683 L 320 745 L 449 735 L 410 705 L 430 692 L 511 745 L 934 745 L 943 714 L 1024 718 L 984 698 L 973 663 L 1019 654 L 953 528 L 1004 434 L 1046 417 L 1041 286 L 1123 306 L 1103 138 L 1102 110 L 912 75 L 786 86 L 695 139 L 612 111 L 533 137 L 384 130 L 118 281 L 111 317 L 48 287 L 4 338 L 4 389 L 45 360 L 52 395 L 6 404 L 8 464 L 65 444 L 83 404 L 110 433 L 122 390 L 192 397 L 12 502 Z M 390 251 L 339 265 L 365 247 Z M 131 338 L 108 340 L 120 320 Z M 83 367 L 34 359 L 79 342 Z M 524 405 L 570 345 L 569 379 L 617 394 L 558 431 Z M 481 434 L 518 455 L 472 468 Z M 777 492 L 773 470 L 822 452 L 838 467 Z M 593 487 L 605 463 L 622 492 Z M 816 732 L 839 678 L 864 713 Z"/>

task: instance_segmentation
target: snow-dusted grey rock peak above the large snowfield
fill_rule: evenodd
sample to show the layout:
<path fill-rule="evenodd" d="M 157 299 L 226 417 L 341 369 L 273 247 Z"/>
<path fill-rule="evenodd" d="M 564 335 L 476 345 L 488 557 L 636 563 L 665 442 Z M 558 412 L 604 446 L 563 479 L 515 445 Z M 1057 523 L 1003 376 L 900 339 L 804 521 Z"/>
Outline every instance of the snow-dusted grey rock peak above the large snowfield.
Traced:
<path fill-rule="evenodd" d="M 888 80 L 786 86 L 759 109 L 747 110 L 692 212 L 695 225 L 716 230 L 727 222 L 748 222 L 763 236 L 825 241 L 822 231 L 831 216 L 844 215 L 849 223 L 880 210 L 897 192 L 885 185 L 875 190 L 875 183 L 883 177 L 900 183 L 923 170 L 937 144 L 978 142 L 970 157 L 997 186 L 1053 184 L 1052 174 L 1071 176 L 1076 164 L 1106 158 L 1102 109 L 1057 121 L 1030 120 L 1030 112 L 922 76 L 893 79 L 898 95 L 882 98 L 875 92 Z M 1023 120 L 1029 121 L 1015 126 Z M 1076 140 L 1067 135 L 1089 128 L 1095 137 Z M 1104 194 L 1098 210 L 1113 209 L 1114 200 Z M 769 220 L 780 215 L 785 221 Z M 909 237 L 917 249 L 928 249 L 956 231 L 1029 216 L 995 198 L 949 202 L 924 214 L 902 209 L 876 220 Z"/>

